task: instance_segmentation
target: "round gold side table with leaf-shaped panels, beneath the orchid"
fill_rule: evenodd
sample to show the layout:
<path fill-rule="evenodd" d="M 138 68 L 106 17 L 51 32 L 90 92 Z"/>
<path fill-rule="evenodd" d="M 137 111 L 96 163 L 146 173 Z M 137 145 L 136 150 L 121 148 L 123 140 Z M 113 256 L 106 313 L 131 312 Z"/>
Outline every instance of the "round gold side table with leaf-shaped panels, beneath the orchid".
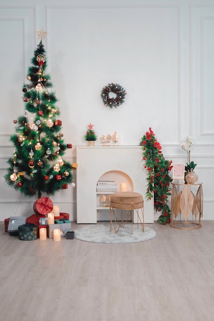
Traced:
<path fill-rule="evenodd" d="M 203 183 L 172 183 L 171 227 L 200 229 L 203 216 Z"/>

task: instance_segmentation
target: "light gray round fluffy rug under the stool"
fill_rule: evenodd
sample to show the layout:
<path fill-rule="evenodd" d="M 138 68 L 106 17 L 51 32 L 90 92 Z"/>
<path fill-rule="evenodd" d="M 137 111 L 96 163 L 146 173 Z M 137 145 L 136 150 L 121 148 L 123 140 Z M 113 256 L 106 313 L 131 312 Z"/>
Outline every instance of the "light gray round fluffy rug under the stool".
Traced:
<path fill-rule="evenodd" d="M 131 224 L 126 224 L 124 228 L 119 229 L 118 233 L 110 231 L 110 222 L 107 225 L 92 224 L 74 231 L 74 238 L 93 243 L 136 243 L 149 240 L 156 236 L 156 232 L 148 227 L 142 231 L 142 227 L 133 225 L 131 234 Z"/>

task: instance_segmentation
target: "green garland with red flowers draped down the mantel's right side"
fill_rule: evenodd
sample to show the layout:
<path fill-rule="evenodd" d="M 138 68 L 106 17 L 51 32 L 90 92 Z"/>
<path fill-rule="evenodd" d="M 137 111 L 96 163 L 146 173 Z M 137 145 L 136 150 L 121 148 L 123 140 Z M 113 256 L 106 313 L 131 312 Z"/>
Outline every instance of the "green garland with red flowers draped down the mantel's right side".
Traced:
<path fill-rule="evenodd" d="M 168 196 L 171 195 L 169 184 L 172 181 L 169 172 L 172 169 L 171 160 L 166 160 L 162 154 L 162 147 L 155 138 L 151 128 L 142 137 L 140 145 L 143 149 L 143 160 L 148 173 L 146 198 L 154 196 L 154 208 L 161 212 L 158 221 L 163 224 L 170 223 L 171 210 L 168 206 Z"/>

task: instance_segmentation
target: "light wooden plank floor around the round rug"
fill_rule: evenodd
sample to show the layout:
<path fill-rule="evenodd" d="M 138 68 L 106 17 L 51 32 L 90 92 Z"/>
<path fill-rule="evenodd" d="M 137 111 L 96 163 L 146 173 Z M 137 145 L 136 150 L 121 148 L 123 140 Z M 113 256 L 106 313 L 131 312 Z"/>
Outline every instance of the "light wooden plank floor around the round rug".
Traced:
<path fill-rule="evenodd" d="M 198 230 L 155 222 L 132 244 L 22 241 L 0 223 L 3 321 L 211 321 L 214 220 Z M 72 223 L 72 230 L 84 225 Z"/>

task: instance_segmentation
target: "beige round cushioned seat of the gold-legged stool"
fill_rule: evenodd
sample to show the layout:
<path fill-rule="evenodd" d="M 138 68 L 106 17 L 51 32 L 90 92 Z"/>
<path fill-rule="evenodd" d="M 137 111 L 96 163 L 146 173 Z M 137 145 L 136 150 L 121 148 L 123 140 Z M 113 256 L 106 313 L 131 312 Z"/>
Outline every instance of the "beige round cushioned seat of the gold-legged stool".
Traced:
<path fill-rule="evenodd" d="M 110 207 L 116 209 L 129 209 L 133 204 L 136 209 L 143 208 L 143 196 L 136 192 L 118 192 L 111 194 Z"/>

